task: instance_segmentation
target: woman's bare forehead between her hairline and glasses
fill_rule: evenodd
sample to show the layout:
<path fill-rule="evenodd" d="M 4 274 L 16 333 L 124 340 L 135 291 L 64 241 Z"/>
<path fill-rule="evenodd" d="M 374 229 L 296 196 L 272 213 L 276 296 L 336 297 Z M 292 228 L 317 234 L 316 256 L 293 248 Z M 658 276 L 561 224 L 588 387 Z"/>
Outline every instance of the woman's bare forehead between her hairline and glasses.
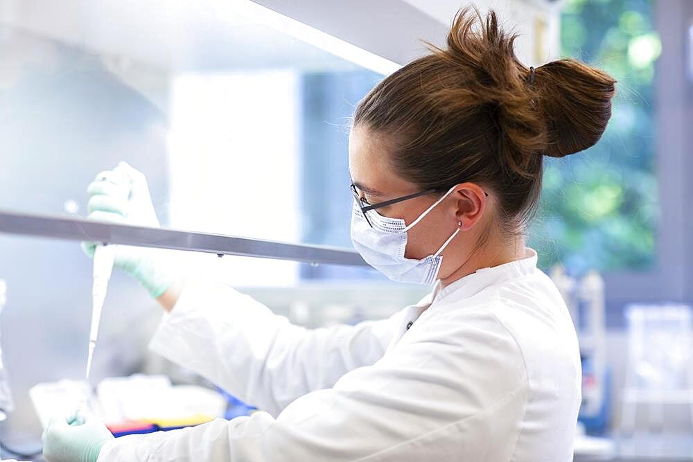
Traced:
<path fill-rule="evenodd" d="M 416 186 L 395 175 L 389 163 L 392 142 L 385 136 L 356 126 L 349 135 L 349 172 L 354 183 L 384 193 L 407 193 Z"/>

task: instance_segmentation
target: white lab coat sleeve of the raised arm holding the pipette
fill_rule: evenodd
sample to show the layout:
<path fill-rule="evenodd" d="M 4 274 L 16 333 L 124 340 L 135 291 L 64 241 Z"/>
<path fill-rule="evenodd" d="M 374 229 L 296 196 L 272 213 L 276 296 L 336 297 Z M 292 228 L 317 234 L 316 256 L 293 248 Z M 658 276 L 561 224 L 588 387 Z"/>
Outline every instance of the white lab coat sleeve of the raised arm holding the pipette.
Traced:
<path fill-rule="evenodd" d="M 398 317 L 308 330 L 226 285 L 188 284 L 150 348 L 273 416 L 310 391 L 374 364 Z"/>

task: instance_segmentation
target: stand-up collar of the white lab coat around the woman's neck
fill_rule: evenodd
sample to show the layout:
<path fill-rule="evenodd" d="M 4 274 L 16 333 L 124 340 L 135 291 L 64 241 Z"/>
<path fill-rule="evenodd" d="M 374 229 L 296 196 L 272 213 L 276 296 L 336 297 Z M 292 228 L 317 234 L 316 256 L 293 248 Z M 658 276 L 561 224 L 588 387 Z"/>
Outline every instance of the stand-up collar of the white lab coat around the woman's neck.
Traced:
<path fill-rule="evenodd" d="M 468 299 L 490 285 L 533 274 L 536 271 L 536 261 L 536 251 L 525 247 L 525 256 L 520 258 L 520 260 L 514 260 L 494 267 L 479 268 L 475 272 L 459 278 L 445 287 L 441 287 L 439 279 L 436 281 L 431 294 L 432 302 L 439 303 L 453 293 L 457 300 Z"/>

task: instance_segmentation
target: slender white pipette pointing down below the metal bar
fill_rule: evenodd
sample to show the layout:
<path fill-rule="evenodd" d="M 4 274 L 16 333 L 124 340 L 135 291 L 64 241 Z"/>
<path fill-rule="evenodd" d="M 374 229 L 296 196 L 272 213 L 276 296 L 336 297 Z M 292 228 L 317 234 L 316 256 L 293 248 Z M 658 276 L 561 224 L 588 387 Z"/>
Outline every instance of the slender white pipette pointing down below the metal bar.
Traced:
<path fill-rule="evenodd" d="M 98 325 L 101 320 L 103 301 L 106 299 L 108 281 L 113 272 L 113 263 L 116 258 L 115 245 L 97 245 L 94 249 L 94 281 L 91 285 L 91 328 L 89 329 L 89 350 L 87 353 L 87 371 L 85 380 L 89 382 L 91 374 L 91 361 L 94 359 L 94 349 L 98 339 Z M 83 422 L 84 414 L 87 411 L 87 396 L 80 401 L 75 414 L 76 420 Z"/>

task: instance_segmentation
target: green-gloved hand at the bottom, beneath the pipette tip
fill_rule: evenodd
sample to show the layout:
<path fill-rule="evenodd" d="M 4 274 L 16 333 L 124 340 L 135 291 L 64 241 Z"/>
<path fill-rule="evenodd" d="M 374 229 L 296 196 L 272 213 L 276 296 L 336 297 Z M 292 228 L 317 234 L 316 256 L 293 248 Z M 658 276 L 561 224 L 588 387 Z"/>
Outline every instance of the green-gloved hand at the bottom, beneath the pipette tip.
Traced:
<path fill-rule="evenodd" d="M 74 416 L 53 417 L 41 437 L 48 462 L 96 462 L 101 447 L 113 439 L 105 425 L 93 416 L 78 425 Z"/>

